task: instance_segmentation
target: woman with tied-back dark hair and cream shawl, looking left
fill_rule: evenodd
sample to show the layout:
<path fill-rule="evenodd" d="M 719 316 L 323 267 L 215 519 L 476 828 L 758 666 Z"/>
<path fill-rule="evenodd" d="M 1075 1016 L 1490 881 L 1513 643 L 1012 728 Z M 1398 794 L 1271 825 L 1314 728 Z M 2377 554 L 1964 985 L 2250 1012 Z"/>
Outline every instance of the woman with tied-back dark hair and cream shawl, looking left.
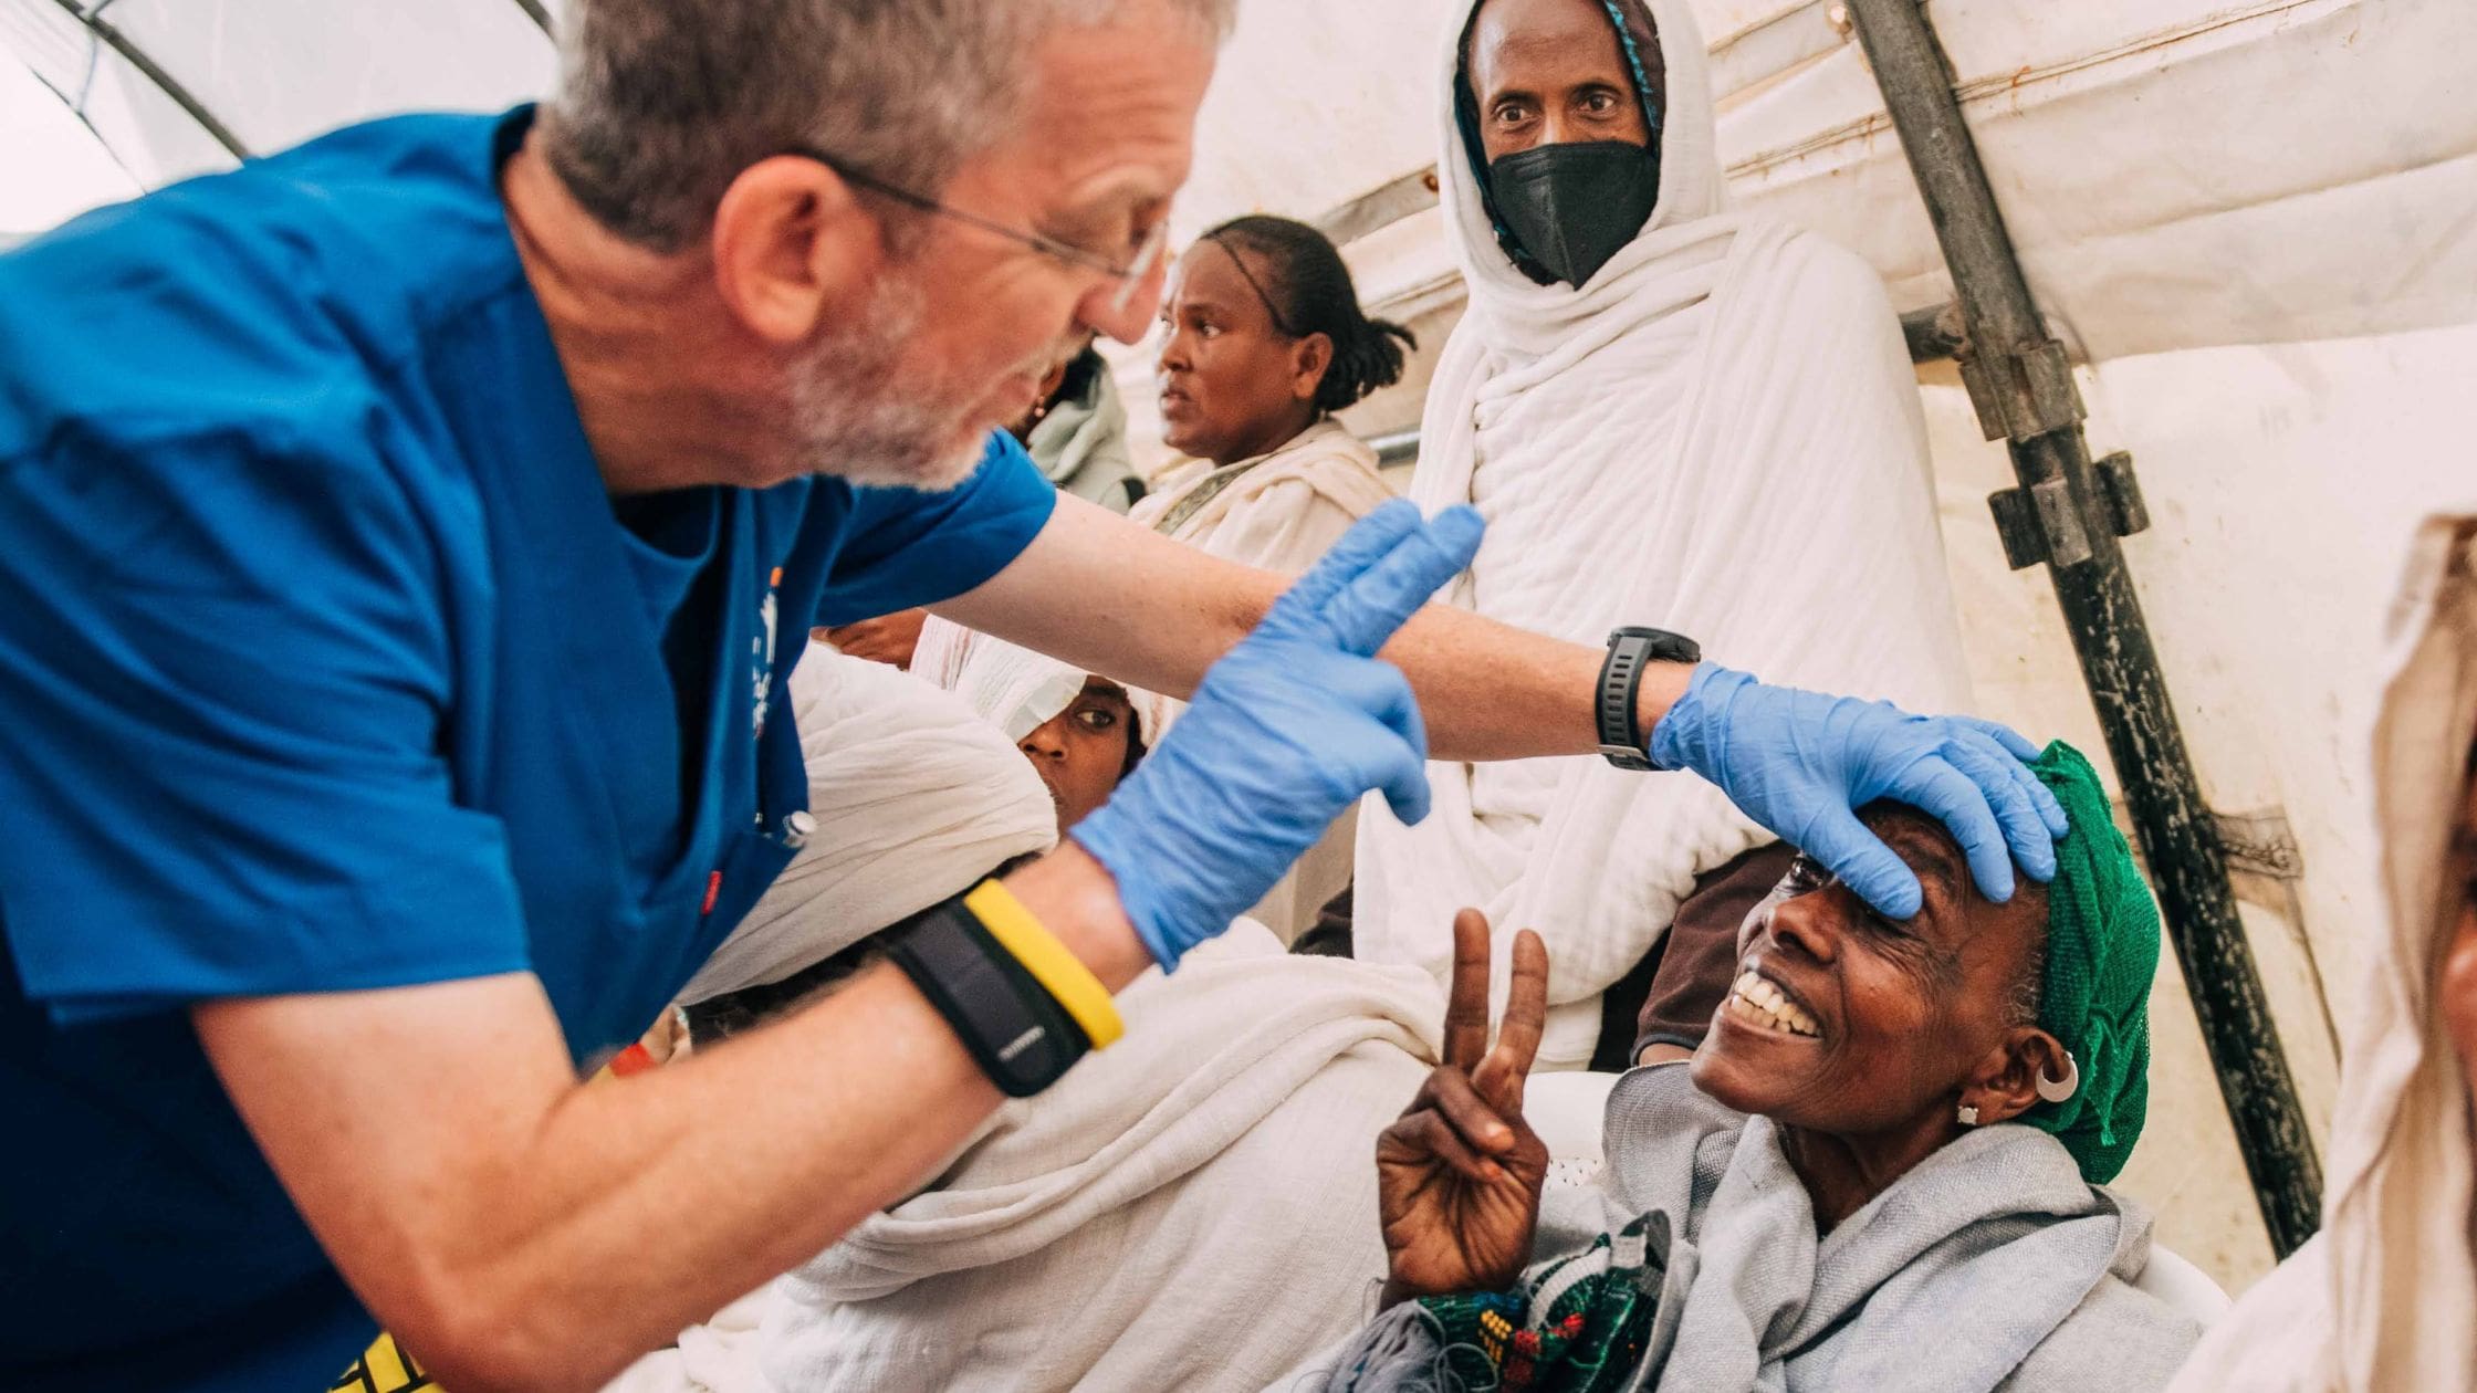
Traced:
<path fill-rule="evenodd" d="M 1333 411 L 1402 379 L 1409 330 L 1360 312 L 1323 233 L 1236 218 L 1186 248 L 1162 302 L 1162 439 L 1189 459 L 1127 513 L 1226 560 L 1298 573 L 1392 496 L 1377 456 Z M 954 687 L 969 637 L 931 620 L 914 672 Z M 1154 734 L 1177 701 L 1139 696 Z M 1283 942 L 1350 885 L 1357 818 L 1343 815 L 1251 912 Z"/>

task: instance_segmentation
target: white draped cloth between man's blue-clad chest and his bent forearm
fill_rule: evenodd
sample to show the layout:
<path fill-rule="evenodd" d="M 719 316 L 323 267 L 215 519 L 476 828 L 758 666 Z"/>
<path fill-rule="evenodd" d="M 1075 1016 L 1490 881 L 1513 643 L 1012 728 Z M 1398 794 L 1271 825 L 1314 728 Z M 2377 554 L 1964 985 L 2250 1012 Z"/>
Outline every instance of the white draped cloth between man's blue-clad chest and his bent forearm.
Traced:
<path fill-rule="evenodd" d="M 780 982 L 1058 845 L 1040 776 L 964 701 L 830 644 L 800 657 L 790 701 L 817 828 L 681 1001 Z"/>

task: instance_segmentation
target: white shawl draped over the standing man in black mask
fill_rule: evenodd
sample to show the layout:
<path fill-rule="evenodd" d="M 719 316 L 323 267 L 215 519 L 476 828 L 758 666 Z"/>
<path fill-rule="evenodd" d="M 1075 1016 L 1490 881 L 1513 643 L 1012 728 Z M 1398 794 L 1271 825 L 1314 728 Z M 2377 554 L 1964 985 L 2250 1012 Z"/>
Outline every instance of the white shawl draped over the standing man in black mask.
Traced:
<path fill-rule="evenodd" d="M 1632 2 L 1632 0 L 1627 0 Z M 1962 709 L 1952 590 L 1917 382 L 1855 255 L 1722 208 L 1704 42 L 1652 0 L 1667 62 L 1660 198 L 1593 280 L 1536 285 L 1499 248 L 1454 119 L 1447 233 L 1469 280 L 1427 397 L 1412 498 L 1474 503 L 1489 535 L 1449 602 L 1598 647 L 1657 625 L 1766 682 Z M 1452 920 L 1548 939 L 1541 1066 L 1580 1066 L 1598 996 L 1667 929 L 1697 872 L 1769 840 L 1717 788 L 1598 756 L 1429 763 L 1434 811 L 1365 811 L 1355 952 L 1444 979 Z M 1511 934 L 1496 944 L 1496 999 Z"/>

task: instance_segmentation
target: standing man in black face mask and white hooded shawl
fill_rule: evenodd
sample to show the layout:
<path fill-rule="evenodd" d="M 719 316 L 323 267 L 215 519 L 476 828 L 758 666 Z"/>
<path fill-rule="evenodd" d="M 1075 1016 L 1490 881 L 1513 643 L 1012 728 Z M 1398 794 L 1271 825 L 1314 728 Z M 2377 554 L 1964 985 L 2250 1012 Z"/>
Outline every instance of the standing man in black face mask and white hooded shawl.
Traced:
<path fill-rule="evenodd" d="M 1689 5 L 1464 0 L 1439 77 L 1469 310 L 1409 493 L 1489 521 L 1444 597 L 1969 709 L 1900 322 L 1855 255 L 1724 211 Z M 1355 952 L 1442 982 L 1439 927 L 1476 905 L 1556 949 L 1543 1068 L 1692 1051 L 1791 853 L 1704 788 L 1588 756 L 1432 763 L 1429 786 L 1417 828 L 1362 818 Z"/>

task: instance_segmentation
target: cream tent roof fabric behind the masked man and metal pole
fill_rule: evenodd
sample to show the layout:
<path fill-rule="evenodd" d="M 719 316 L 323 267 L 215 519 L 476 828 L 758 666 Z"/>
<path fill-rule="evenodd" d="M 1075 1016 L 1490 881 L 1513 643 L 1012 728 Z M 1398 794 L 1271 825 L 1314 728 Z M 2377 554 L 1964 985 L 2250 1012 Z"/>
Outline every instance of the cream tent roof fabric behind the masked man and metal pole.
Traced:
<path fill-rule="evenodd" d="M 1313 216 L 1432 159 L 1449 5 L 1253 0 L 1206 99 L 1182 223 Z M 1902 310 L 1949 297 L 1925 206 L 1826 0 L 1694 0 L 1719 37 L 1739 208 L 1865 255 Z M 2467 0 L 1932 0 L 2041 302 L 2093 357 L 2477 320 L 2477 102 L 2437 55 Z M 1343 57 L 1347 55 L 1347 57 Z M 1347 131 L 1347 136 L 1343 136 Z M 1390 310 L 1452 302 L 1434 216 L 1360 248 Z M 2242 268 L 2244 275 L 2229 275 Z"/>

